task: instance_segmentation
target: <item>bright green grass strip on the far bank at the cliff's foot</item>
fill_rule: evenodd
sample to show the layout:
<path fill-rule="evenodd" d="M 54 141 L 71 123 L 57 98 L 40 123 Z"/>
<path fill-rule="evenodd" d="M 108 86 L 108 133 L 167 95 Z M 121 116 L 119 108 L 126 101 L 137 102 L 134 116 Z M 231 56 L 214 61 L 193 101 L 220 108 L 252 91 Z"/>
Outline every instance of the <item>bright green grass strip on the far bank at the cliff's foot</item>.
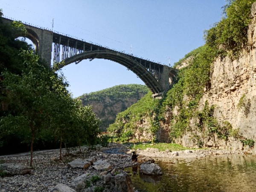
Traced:
<path fill-rule="evenodd" d="M 186 149 L 190 149 L 188 147 L 183 147 L 179 144 L 176 143 L 139 143 L 139 144 L 134 144 L 132 149 L 147 149 L 147 148 L 154 148 L 154 149 L 159 149 L 160 151 L 165 151 L 165 150 L 170 150 L 170 151 L 182 151 Z"/>

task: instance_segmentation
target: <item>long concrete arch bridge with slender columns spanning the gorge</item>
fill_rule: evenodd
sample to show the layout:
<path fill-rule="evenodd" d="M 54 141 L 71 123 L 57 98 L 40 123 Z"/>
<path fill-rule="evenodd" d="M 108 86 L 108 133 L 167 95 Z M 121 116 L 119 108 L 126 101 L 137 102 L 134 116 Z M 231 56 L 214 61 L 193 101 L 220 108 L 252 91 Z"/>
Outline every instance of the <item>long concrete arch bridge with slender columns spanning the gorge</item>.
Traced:
<path fill-rule="evenodd" d="M 2 19 L 9 23 L 13 21 Z M 49 67 L 55 70 L 70 63 L 77 64 L 84 59 L 111 60 L 134 72 L 152 91 L 153 96 L 162 95 L 172 87 L 176 80 L 177 69 L 169 66 L 52 32 L 49 29 L 23 24 L 27 29 L 26 37 L 34 43 L 36 52 L 48 63 Z M 53 58 L 51 58 L 52 55 Z M 51 60 L 53 60 L 52 66 Z"/>

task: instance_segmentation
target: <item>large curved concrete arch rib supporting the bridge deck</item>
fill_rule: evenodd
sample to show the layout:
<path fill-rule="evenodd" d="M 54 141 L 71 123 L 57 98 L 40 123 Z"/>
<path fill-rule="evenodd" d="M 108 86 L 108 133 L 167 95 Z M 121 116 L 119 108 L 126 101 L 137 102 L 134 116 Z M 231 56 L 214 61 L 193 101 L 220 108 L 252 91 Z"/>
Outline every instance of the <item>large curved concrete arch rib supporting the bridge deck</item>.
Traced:
<path fill-rule="evenodd" d="M 143 65 L 138 63 L 136 60 L 132 59 L 132 57 L 129 57 L 128 55 L 122 54 L 120 52 L 114 52 L 111 50 L 96 50 L 90 52 L 83 52 L 81 54 L 76 54 L 73 57 L 67 58 L 64 65 L 58 65 L 58 67 L 56 68 L 61 69 L 63 66 L 66 66 L 70 63 L 80 62 L 84 59 L 93 60 L 95 58 L 111 60 L 121 64 L 122 66 L 125 66 L 127 69 L 130 69 L 146 84 L 146 86 L 148 86 L 153 94 L 163 92 L 163 87 L 151 74 L 151 72 L 149 72 Z"/>

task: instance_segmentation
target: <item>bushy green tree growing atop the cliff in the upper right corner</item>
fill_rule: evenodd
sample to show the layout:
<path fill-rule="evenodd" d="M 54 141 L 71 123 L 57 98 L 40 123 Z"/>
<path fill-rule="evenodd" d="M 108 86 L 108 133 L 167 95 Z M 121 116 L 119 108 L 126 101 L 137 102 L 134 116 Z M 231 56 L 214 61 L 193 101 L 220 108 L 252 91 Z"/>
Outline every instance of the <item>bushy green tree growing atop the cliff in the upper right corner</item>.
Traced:
<path fill-rule="evenodd" d="M 206 43 L 221 56 L 238 57 L 246 48 L 247 30 L 251 21 L 250 8 L 255 0 L 229 0 L 225 16 L 205 32 Z"/>

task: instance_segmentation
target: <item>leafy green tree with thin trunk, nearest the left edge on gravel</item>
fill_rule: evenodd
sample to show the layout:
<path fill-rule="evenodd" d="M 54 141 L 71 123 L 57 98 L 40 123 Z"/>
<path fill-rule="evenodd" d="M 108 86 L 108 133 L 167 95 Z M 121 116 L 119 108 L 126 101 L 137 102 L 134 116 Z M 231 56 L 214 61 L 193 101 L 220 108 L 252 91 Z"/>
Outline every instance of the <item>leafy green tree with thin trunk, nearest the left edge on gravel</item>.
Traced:
<path fill-rule="evenodd" d="M 15 75 L 3 72 L 3 99 L 9 103 L 9 115 L 2 117 L 1 127 L 26 130 L 30 136 L 24 139 L 30 143 L 30 166 L 33 159 L 33 143 L 37 133 L 46 129 L 52 115 L 52 79 L 55 74 L 39 62 L 38 55 L 33 51 L 22 51 L 28 72 Z M 14 125 L 8 127 L 9 122 Z"/>

